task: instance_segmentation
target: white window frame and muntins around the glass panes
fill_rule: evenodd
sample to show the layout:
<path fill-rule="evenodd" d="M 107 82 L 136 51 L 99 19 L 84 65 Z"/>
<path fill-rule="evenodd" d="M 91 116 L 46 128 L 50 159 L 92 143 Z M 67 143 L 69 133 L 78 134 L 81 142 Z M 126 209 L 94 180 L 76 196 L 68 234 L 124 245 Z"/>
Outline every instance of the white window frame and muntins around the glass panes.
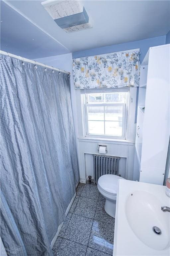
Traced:
<path fill-rule="evenodd" d="M 86 90 L 88 91 L 88 90 Z M 92 94 L 92 93 L 99 93 L 98 90 L 94 90 L 93 92 L 83 92 L 81 93 L 81 102 L 82 102 L 82 114 L 83 114 L 83 131 L 84 131 L 84 136 L 85 137 L 90 137 L 90 138 L 106 138 L 106 139 L 126 139 L 126 132 L 127 132 L 127 117 L 128 117 L 128 98 L 129 94 L 127 90 L 109 90 L 108 92 L 116 93 L 116 92 L 125 92 L 125 103 L 86 103 L 87 102 L 87 94 Z M 101 90 L 100 93 L 107 93 L 106 90 Z M 122 118 L 122 136 L 114 136 L 114 135 L 104 135 L 104 134 L 89 134 L 89 126 L 88 126 L 88 111 L 87 107 L 89 106 L 123 106 L 123 118 Z M 105 111 L 104 111 L 105 112 Z M 93 120 L 91 120 L 93 121 Z M 100 120 L 94 120 L 94 121 L 100 121 Z M 101 120 L 104 122 L 104 129 L 105 129 L 105 122 L 109 120 L 105 120 L 105 113 L 104 113 L 104 120 Z"/>

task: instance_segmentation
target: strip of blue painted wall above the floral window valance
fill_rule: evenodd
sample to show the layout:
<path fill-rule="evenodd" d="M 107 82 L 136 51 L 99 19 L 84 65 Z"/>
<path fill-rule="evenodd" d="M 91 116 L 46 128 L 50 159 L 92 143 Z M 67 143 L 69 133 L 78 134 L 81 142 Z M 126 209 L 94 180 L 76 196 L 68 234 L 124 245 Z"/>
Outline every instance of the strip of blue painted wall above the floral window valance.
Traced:
<path fill-rule="evenodd" d="M 116 44 L 116 45 L 110 45 L 110 46 L 105 46 L 105 47 L 100 47 L 100 48 L 94 48 L 94 49 L 84 50 L 84 51 L 79 51 L 79 52 L 73 52 L 72 57 L 74 59 L 74 58 L 80 58 L 80 57 L 93 56 L 93 55 L 126 51 L 126 50 L 130 50 L 130 49 L 140 48 L 140 62 L 142 62 L 149 47 L 165 44 L 166 36 L 167 35 L 147 38 L 147 39 L 123 43 L 123 44 Z"/>

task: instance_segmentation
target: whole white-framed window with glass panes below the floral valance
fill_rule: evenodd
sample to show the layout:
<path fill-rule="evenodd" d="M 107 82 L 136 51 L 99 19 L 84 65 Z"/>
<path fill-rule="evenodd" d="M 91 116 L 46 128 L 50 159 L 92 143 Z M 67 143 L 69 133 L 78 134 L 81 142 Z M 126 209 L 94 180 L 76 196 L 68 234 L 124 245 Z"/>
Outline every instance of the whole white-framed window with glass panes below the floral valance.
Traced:
<path fill-rule="evenodd" d="M 125 138 L 127 92 L 85 94 L 86 136 Z"/>

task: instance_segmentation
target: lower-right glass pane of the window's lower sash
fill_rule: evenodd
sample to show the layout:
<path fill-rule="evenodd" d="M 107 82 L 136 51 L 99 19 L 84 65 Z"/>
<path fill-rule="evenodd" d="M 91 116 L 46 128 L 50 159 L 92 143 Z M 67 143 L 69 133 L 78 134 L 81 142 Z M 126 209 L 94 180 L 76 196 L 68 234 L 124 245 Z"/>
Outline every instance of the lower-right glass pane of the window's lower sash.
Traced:
<path fill-rule="evenodd" d="M 112 136 L 122 136 L 122 122 L 106 121 L 105 134 L 112 135 Z"/>

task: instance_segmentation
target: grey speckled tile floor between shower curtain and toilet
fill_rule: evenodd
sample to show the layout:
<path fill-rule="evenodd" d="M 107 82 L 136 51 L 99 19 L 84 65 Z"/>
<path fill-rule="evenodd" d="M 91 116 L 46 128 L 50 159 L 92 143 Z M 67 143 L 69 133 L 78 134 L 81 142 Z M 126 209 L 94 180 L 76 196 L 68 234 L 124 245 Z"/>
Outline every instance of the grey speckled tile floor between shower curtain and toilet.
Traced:
<path fill-rule="evenodd" d="M 104 210 L 97 185 L 79 183 L 57 240 L 54 256 L 113 255 L 115 219 Z"/>

